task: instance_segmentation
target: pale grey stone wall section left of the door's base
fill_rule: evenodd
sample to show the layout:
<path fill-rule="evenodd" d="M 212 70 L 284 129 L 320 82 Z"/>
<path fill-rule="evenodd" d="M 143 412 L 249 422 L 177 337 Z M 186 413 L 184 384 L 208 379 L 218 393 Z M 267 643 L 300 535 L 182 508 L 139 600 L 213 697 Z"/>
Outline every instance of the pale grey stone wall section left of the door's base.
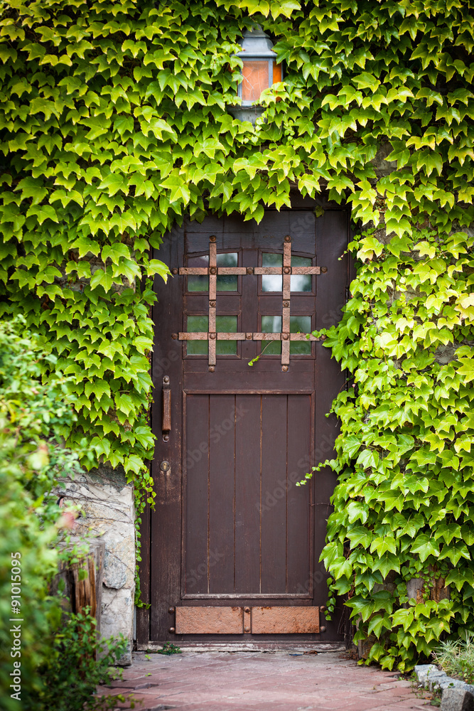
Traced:
<path fill-rule="evenodd" d="M 65 506 L 80 508 L 74 535 L 100 536 L 105 543 L 100 632 L 104 637 L 124 634 L 129 644 L 119 663 L 129 665 L 135 594 L 133 486 L 126 483 L 121 467 L 108 466 L 64 481 L 65 490 L 57 492 L 65 497 Z"/>

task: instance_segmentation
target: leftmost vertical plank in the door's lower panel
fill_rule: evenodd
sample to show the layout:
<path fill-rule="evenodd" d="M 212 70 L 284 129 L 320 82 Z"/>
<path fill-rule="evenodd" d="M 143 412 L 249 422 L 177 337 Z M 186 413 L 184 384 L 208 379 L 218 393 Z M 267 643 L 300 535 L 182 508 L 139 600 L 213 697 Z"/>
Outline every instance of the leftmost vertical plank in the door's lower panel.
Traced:
<path fill-rule="evenodd" d="M 183 592 L 208 592 L 209 395 L 186 398 Z"/>

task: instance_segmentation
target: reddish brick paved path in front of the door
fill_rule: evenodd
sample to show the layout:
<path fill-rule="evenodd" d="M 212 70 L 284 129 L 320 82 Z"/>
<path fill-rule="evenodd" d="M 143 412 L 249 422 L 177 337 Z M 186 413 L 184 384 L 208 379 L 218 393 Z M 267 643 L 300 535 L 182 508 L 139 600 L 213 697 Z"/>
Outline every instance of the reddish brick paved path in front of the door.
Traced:
<path fill-rule="evenodd" d="M 133 693 L 136 710 L 430 711 L 396 673 L 360 667 L 340 653 L 136 653 L 124 681 L 99 693 Z M 117 703 L 117 709 L 130 703 Z"/>

